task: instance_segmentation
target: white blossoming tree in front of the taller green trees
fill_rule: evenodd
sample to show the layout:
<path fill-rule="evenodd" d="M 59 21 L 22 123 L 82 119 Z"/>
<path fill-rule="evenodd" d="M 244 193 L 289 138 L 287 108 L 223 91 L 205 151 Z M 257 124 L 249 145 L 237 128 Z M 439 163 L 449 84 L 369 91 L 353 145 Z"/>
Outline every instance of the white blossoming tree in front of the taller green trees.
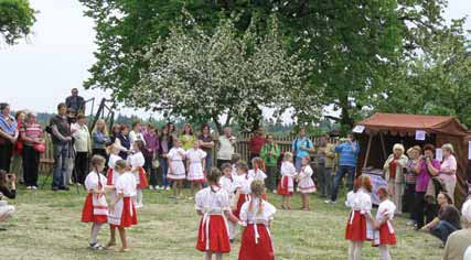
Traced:
<path fill-rule="evenodd" d="M 313 91 L 304 86 L 310 66 L 286 52 L 275 19 L 263 37 L 254 26 L 237 35 L 231 19 L 222 20 L 212 35 L 191 17 L 181 24 L 144 54 L 149 69 L 132 90 L 133 106 L 213 121 L 220 132 L 231 120 L 256 128 L 263 107 L 275 108 L 278 117 L 288 108 L 295 108 L 295 117 L 319 115 Z"/>

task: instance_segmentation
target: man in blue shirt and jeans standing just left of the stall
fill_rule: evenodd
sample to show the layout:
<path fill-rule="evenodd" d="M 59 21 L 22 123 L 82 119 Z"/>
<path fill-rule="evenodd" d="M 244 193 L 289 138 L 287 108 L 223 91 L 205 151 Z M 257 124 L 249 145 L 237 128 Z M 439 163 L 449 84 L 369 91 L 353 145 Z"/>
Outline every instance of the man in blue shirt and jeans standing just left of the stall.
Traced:
<path fill-rule="evenodd" d="M 356 161 L 360 153 L 360 145 L 355 141 L 353 133 L 349 133 L 346 136 L 346 140 L 338 141 L 335 152 L 339 154 L 339 170 L 336 171 L 333 180 L 331 199 L 325 201 L 327 204 L 336 203 L 339 185 L 345 174 L 347 175 L 346 184 L 349 191 L 353 189 Z"/>

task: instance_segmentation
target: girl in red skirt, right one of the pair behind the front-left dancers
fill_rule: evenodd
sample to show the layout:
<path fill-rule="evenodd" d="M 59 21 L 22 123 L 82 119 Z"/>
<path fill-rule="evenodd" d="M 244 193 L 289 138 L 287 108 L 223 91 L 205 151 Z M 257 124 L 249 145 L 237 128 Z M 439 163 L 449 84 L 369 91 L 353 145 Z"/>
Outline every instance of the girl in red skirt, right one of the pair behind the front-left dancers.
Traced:
<path fill-rule="evenodd" d="M 146 159 L 141 152 L 142 148 L 143 142 L 141 140 L 136 140 L 132 143 L 132 154 L 128 156 L 128 165 L 131 166 L 131 173 L 135 175 L 137 183 L 136 208 L 143 207 L 142 189 L 149 186 L 146 170 L 143 170 Z"/>

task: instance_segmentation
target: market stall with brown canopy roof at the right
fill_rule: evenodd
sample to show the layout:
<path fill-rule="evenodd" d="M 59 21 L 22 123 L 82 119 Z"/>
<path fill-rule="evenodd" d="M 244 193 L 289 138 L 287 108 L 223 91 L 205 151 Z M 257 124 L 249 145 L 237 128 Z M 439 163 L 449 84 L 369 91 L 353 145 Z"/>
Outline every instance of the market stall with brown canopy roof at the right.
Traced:
<path fill-rule="evenodd" d="M 431 143 L 440 148 L 451 143 L 458 161 L 457 188 L 454 197 L 458 206 L 467 195 L 468 142 L 467 129 L 454 117 L 375 113 L 360 121 L 362 133 L 356 138 L 362 148 L 358 156 L 358 171 L 362 169 L 382 169 L 395 143 L 403 143 L 406 150 L 413 145 Z M 363 127 L 360 127 L 361 129 Z M 416 140 L 416 131 L 425 131 L 425 140 Z"/>

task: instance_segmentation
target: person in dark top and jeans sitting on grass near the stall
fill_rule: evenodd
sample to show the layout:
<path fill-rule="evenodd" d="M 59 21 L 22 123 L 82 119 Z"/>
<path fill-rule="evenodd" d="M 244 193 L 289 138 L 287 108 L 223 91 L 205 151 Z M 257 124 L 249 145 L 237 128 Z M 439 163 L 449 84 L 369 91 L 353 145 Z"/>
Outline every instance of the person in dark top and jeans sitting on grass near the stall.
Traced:
<path fill-rule="evenodd" d="M 440 192 L 437 196 L 438 217 L 425 225 L 421 230 L 429 231 L 432 236 L 439 238 L 443 246 L 448 237 L 458 229 L 461 229 L 460 213 L 453 206 L 451 196 L 446 192 Z"/>

